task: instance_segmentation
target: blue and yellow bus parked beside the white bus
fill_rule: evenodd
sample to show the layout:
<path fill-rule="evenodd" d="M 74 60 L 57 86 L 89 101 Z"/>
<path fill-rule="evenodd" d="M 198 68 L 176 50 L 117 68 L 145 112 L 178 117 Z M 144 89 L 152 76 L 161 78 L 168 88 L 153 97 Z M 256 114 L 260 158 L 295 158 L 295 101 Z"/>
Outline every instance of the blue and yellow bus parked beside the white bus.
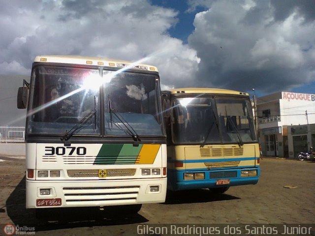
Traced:
<path fill-rule="evenodd" d="M 259 145 L 248 93 L 182 88 L 163 91 L 162 100 L 168 189 L 224 193 L 258 182 Z"/>

